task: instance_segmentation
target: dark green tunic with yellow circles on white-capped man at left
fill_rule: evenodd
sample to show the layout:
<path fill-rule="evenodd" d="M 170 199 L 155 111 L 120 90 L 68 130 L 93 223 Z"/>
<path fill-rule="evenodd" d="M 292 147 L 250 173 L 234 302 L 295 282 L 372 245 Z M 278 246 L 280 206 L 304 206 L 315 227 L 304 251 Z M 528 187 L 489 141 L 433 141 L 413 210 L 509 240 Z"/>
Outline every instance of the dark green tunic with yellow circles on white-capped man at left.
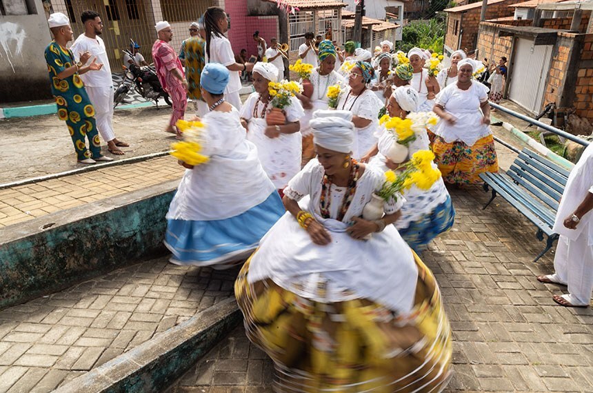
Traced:
<path fill-rule="evenodd" d="M 84 83 L 78 72 L 74 72 L 68 78 L 59 79 L 59 73 L 72 67 L 74 55 L 70 49 L 62 48 L 56 41 L 52 41 L 46 48 L 46 63 L 52 85 L 52 94 L 58 105 L 58 117 L 60 120 L 78 123 L 81 118 L 93 117 L 94 108 L 90 103 Z"/>

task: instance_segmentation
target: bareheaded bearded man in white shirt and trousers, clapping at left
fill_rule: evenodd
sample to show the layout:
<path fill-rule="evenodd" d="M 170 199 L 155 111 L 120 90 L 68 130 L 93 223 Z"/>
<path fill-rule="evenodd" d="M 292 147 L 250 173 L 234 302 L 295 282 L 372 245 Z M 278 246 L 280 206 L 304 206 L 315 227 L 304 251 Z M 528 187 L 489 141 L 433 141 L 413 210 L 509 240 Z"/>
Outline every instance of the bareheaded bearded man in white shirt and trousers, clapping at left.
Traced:
<path fill-rule="evenodd" d="M 99 35 L 103 32 L 101 17 L 94 11 L 83 11 L 81 22 L 84 24 L 84 34 L 80 34 L 70 50 L 79 60 L 80 54 L 90 52 L 91 59 L 103 63 L 103 68 L 97 72 L 87 72 L 81 75 L 90 102 L 94 106 L 97 129 L 112 154 L 124 154 L 119 148 L 128 147 L 128 143 L 118 141 L 113 131 L 113 81 L 109 59 L 105 50 L 105 43 Z M 88 61 L 90 62 L 90 60 Z"/>

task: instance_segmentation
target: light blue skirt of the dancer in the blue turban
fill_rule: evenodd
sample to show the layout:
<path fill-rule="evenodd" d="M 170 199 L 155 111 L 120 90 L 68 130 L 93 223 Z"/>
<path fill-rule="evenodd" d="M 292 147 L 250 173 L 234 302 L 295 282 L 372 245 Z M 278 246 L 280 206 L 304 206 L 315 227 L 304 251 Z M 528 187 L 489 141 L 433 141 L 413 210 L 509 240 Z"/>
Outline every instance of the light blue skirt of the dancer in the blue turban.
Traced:
<path fill-rule="evenodd" d="M 285 213 L 278 192 L 250 210 L 214 221 L 168 220 L 165 245 L 178 265 L 231 268 L 257 248 L 263 235 Z"/>

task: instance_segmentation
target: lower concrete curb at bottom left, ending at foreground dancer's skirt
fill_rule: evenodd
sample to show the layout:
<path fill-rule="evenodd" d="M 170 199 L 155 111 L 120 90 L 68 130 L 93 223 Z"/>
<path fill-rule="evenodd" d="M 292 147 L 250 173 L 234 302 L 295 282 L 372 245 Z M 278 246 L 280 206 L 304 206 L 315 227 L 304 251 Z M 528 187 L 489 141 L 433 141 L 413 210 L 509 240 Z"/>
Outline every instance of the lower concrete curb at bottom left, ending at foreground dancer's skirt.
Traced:
<path fill-rule="evenodd" d="M 164 392 L 241 319 L 235 299 L 221 301 L 54 392 Z"/>

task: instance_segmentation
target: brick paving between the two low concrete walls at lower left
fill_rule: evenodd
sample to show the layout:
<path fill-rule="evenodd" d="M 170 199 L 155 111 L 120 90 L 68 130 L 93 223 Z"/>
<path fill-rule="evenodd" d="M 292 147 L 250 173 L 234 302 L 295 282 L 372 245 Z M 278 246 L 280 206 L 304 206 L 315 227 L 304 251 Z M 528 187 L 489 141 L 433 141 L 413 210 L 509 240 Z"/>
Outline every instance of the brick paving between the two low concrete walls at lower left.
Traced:
<path fill-rule="evenodd" d="M 238 270 L 115 270 L 0 311 L 0 392 L 46 393 L 232 296 Z"/>

